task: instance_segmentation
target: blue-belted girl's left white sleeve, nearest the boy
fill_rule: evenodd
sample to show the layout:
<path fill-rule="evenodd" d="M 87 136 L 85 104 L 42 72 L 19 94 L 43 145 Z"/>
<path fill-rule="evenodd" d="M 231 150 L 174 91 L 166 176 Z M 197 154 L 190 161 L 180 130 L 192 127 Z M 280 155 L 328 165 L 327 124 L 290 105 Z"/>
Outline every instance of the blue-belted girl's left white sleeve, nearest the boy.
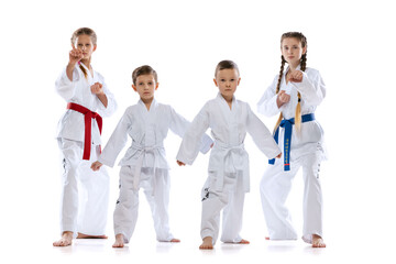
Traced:
<path fill-rule="evenodd" d="M 278 114 L 282 110 L 282 108 L 278 108 L 278 106 L 276 103 L 277 79 L 278 79 L 278 76 L 275 77 L 272 85 L 265 90 L 264 95 L 257 102 L 257 112 L 260 112 L 266 117 L 273 117 L 275 114 Z"/>

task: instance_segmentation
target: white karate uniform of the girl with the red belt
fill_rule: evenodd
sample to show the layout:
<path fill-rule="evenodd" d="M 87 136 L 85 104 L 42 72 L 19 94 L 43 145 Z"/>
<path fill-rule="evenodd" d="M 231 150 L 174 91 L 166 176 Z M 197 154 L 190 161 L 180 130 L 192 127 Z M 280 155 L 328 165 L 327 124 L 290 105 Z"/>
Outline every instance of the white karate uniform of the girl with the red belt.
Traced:
<path fill-rule="evenodd" d="M 85 65 L 81 64 L 84 67 Z M 86 67 L 85 67 L 86 68 Z M 55 89 L 68 103 L 75 103 L 102 117 L 111 116 L 117 108 L 113 95 L 105 84 L 103 77 L 86 68 L 87 79 L 76 65 L 73 81 L 66 75 L 66 68 L 55 82 Z M 103 85 L 108 99 L 107 108 L 92 95 L 90 86 Z M 63 191 L 61 202 L 61 231 L 72 231 L 102 235 L 106 231 L 107 209 L 109 202 L 109 176 L 103 169 L 92 172 L 90 165 L 100 153 L 100 131 L 96 119 L 91 119 L 90 157 L 82 160 L 85 150 L 85 114 L 68 109 L 58 122 L 57 140 L 63 155 Z"/>

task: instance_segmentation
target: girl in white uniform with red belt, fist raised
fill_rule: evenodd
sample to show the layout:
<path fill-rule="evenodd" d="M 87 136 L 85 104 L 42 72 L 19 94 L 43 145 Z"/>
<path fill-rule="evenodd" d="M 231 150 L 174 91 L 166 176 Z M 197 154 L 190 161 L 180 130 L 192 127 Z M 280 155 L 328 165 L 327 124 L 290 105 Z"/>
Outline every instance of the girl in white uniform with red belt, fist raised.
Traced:
<path fill-rule="evenodd" d="M 55 82 L 56 91 L 67 102 L 58 123 L 57 140 L 63 156 L 61 240 L 55 246 L 72 244 L 73 238 L 106 239 L 109 204 L 109 176 L 94 173 L 90 165 L 100 154 L 101 117 L 117 108 L 103 77 L 92 69 L 91 55 L 97 35 L 81 28 L 72 36 L 69 62 Z"/>

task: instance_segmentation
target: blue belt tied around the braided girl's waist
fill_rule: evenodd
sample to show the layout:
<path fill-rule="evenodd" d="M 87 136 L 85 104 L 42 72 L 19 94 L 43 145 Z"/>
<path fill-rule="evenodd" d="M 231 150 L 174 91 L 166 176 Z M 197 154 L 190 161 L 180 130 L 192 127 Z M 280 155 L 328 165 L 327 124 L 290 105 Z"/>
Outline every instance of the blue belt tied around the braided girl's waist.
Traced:
<path fill-rule="evenodd" d="M 314 121 L 315 114 L 314 113 L 307 113 L 301 117 L 301 123 Z M 292 147 L 292 131 L 293 125 L 295 121 L 293 119 L 284 119 L 282 120 L 279 127 L 285 128 L 285 136 L 284 136 L 284 166 L 285 170 L 290 170 L 290 147 Z M 274 139 L 276 144 L 278 144 L 278 138 L 279 138 L 279 127 L 276 129 Z M 268 161 L 270 164 L 275 164 L 275 158 Z"/>

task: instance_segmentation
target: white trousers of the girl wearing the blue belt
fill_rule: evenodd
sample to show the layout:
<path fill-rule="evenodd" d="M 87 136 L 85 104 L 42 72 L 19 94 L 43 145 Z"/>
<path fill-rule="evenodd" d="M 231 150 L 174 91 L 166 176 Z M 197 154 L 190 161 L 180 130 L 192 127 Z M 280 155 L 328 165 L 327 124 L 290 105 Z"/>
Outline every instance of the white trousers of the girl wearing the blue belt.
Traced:
<path fill-rule="evenodd" d="M 304 200 L 302 240 L 311 243 L 312 234 L 322 237 L 322 191 L 319 180 L 320 155 L 309 154 L 292 161 L 290 170 L 284 172 L 283 158 L 276 158 L 274 165 L 263 175 L 260 185 L 262 206 L 271 240 L 296 240 L 297 232 L 285 206 L 290 193 L 292 182 L 302 167 Z"/>

